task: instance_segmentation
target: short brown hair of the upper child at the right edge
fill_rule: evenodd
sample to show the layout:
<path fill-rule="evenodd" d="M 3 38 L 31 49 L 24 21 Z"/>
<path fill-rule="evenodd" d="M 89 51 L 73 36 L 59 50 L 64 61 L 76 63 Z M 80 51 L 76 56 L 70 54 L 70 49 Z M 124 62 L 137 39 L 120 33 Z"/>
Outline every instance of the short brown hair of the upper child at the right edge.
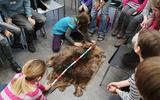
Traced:
<path fill-rule="evenodd" d="M 160 33 L 156 30 L 142 30 L 138 36 L 142 57 L 160 56 Z"/>

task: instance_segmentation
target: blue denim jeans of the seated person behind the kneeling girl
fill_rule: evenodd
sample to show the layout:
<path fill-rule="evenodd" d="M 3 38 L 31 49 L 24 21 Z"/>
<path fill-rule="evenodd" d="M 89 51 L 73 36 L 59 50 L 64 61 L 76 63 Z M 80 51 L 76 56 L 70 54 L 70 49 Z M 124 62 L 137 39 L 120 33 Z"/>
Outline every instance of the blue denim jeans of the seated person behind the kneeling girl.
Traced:
<path fill-rule="evenodd" d="M 92 5 L 94 6 L 96 0 L 92 1 Z M 103 35 L 105 36 L 105 33 L 107 32 L 107 22 L 108 22 L 108 15 L 109 15 L 109 4 L 110 4 L 111 0 L 109 0 L 107 3 L 105 3 L 105 5 L 101 8 L 101 14 L 100 14 L 100 25 L 98 28 L 98 35 Z M 98 12 L 97 10 L 94 9 L 94 7 L 92 6 L 91 9 L 91 17 L 92 17 L 92 21 L 89 25 L 89 29 L 88 31 L 91 33 L 94 33 L 96 31 L 96 23 L 97 23 L 97 15 Z"/>

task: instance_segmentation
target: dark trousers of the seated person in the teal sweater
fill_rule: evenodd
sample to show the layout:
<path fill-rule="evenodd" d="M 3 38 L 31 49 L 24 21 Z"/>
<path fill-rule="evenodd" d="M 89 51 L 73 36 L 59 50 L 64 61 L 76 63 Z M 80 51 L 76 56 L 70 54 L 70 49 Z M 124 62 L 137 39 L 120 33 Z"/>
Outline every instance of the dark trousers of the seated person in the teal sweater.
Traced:
<path fill-rule="evenodd" d="M 34 10 L 32 10 L 32 18 L 36 21 L 34 27 L 28 21 L 25 14 L 17 14 L 12 17 L 12 22 L 24 29 L 26 41 L 28 44 L 33 42 L 33 35 L 36 34 L 35 32 L 39 30 L 46 21 L 46 18 L 43 15 L 35 12 Z"/>

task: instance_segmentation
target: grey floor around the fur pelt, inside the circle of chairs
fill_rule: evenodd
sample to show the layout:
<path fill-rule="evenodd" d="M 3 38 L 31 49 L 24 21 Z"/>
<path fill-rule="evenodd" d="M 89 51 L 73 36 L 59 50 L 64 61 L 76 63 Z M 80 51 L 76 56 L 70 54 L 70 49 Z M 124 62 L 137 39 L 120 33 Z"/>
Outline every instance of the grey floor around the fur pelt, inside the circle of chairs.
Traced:
<path fill-rule="evenodd" d="M 75 14 L 75 11 L 71 9 L 70 1 L 71 0 L 66 0 L 66 15 Z M 60 12 L 62 13 L 62 11 L 63 9 Z M 110 14 L 113 15 L 113 12 L 110 12 Z M 37 48 L 36 53 L 30 53 L 27 50 L 22 50 L 22 49 L 13 50 L 14 57 L 20 65 L 23 65 L 27 60 L 33 58 L 40 58 L 46 61 L 49 57 L 53 55 L 51 50 L 52 39 L 50 35 L 50 30 L 51 26 L 56 21 L 57 21 L 56 11 L 54 14 L 52 13 L 47 14 L 47 22 L 45 27 L 47 30 L 48 37 L 46 39 L 42 38 L 41 36 L 38 37 L 38 40 L 35 41 L 35 45 Z M 96 35 L 93 36 L 93 39 L 96 39 Z M 103 65 L 100 67 L 98 73 L 88 84 L 87 89 L 84 92 L 83 96 L 75 97 L 73 95 L 74 87 L 70 86 L 64 92 L 60 92 L 58 90 L 54 91 L 52 94 L 48 95 L 48 100 L 109 100 L 111 94 L 106 91 L 106 84 L 112 81 L 119 81 L 123 76 L 125 76 L 125 73 L 121 72 L 119 69 L 111 67 L 107 76 L 105 77 L 102 86 L 101 87 L 99 86 L 102 77 L 108 67 L 108 60 L 116 50 L 116 48 L 113 46 L 115 40 L 116 40 L 115 38 L 111 37 L 110 33 L 107 33 L 107 36 L 104 41 L 97 42 L 97 45 L 103 48 L 103 50 L 105 51 L 106 58 Z M 1 68 L 1 70 L 2 72 L 0 73 L 0 79 L 2 82 L 5 83 L 9 82 L 9 80 L 15 74 L 9 67 Z"/>

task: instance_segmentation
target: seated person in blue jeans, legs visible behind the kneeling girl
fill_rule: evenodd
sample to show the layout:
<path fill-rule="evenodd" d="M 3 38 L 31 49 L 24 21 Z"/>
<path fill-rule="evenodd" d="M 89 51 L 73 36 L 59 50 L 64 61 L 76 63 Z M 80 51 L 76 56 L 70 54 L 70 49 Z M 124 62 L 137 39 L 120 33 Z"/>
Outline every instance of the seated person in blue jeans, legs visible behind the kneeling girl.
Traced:
<path fill-rule="evenodd" d="M 107 32 L 107 18 L 109 15 L 108 5 L 111 0 L 92 0 L 92 10 L 91 10 L 91 17 L 92 21 L 89 25 L 88 32 L 90 34 L 94 34 L 96 32 L 96 23 L 97 23 L 97 15 L 101 9 L 101 20 L 98 29 L 98 41 L 103 41 L 105 38 L 105 34 Z"/>

